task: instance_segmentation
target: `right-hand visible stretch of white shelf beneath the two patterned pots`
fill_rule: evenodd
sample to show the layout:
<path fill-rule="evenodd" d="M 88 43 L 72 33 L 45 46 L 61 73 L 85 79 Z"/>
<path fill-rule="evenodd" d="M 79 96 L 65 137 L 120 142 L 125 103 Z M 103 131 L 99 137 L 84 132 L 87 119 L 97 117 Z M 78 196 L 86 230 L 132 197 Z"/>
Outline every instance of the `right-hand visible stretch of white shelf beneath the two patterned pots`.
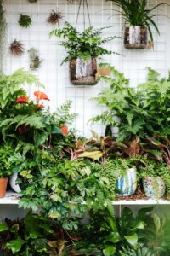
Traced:
<path fill-rule="evenodd" d="M 112 201 L 114 206 L 155 206 L 155 205 L 170 205 L 170 201 L 159 199 L 139 199 L 139 200 L 119 200 L 119 201 Z"/>

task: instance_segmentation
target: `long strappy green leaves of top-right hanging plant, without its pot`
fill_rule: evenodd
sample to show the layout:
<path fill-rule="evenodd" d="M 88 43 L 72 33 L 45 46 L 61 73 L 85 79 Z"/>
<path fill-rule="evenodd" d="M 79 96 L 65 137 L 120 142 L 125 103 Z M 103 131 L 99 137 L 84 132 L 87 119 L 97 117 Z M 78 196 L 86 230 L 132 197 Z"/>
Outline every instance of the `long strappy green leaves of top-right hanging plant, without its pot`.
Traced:
<path fill-rule="evenodd" d="M 112 2 L 116 7 L 122 10 L 116 10 L 120 13 L 125 20 L 125 23 L 130 26 L 147 26 L 150 32 L 151 41 L 153 41 L 153 33 L 151 26 L 156 29 L 156 32 L 160 34 L 154 18 L 160 16 L 159 7 L 162 5 L 168 5 L 167 3 L 159 3 L 154 7 L 148 8 L 148 0 L 106 0 L 106 2 Z M 158 13 L 154 13 L 156 10 Z"/>

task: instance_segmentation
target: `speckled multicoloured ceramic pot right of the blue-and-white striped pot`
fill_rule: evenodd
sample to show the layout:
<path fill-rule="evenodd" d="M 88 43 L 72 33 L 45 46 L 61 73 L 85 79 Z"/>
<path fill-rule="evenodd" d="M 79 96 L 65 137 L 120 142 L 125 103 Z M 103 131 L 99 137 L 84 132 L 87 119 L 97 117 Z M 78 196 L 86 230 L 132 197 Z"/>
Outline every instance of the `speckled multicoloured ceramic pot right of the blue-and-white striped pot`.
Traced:
<path fill-rule="evenodd" d="M 161 198 L 165 195 L 165 183 L 161 177 L 143 178 L 144 193 L 152 199 Z"/>

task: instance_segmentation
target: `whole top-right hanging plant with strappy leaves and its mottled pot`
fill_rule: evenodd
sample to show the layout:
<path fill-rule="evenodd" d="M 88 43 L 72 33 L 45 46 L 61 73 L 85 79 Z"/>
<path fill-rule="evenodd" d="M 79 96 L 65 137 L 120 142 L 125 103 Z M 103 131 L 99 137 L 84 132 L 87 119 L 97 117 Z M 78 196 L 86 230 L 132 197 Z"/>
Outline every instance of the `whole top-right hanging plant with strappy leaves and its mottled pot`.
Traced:
<path fill-rule="evenodd" d="M 106 2 L 113 2 L 116 7 L 121 8 L 123 19 L 125 20 L 124 31 L 124 46 L 127 49 L 145 49 L 148 43 L 148 32 L 150 33 L 150 39 L 153 41 L 152 28 L 156 29 L 156 32 L 160 34 L 154 17 L 160 16 L 157 12 L 153 14 L 154 10 L 158 10 L 161 5 L 166 3 L 156 4 L 152 8 L 148 8 L 148 0 L 106 0 Z"/>

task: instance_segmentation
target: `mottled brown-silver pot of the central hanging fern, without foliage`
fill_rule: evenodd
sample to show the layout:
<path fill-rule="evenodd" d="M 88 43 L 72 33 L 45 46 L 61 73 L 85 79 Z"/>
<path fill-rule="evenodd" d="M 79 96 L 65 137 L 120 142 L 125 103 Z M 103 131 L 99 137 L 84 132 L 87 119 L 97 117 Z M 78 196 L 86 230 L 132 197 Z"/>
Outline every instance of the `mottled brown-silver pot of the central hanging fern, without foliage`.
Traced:
<path fill-rule="evenodd" d="M 70 77 L 71 83 L 75 85 L 95 85 L 98 83 L 96 79 L 97 60 L 94 57 L 83 61 L 82 58 L 72 59 L 70 61 Z"/>

